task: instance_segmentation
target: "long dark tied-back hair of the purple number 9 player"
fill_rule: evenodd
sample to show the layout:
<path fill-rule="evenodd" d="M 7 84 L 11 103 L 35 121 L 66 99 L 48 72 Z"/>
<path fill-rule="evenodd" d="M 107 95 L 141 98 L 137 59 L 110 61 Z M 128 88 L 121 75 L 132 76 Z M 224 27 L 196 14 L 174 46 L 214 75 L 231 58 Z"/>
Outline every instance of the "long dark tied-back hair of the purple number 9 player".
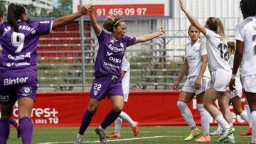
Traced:
<path fill-rule="evenodd" d="M 26 10 L 23 6 L 19 6 L 16 4 L 9 4 L 8 13 L 7 13 L 7 21 L 11 24 L 11 27 L 14 28 L 14 31 L 18 31 L 18 23 L 17 21 L 21 19 L 23 13 L 26 13 Z"/>

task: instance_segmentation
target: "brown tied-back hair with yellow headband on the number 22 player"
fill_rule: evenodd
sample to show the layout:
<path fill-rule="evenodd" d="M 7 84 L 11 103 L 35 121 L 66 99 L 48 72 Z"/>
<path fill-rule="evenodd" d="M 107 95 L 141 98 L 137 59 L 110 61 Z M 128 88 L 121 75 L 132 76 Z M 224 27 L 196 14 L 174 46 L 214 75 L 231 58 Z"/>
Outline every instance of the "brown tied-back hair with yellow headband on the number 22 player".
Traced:
<path fill-rule="evenodd" d="M 114 28 L 117 28 L 119 26 L 119 23 L 122 21 L 121 18 L 113 18 L 113 17 L 107 17 L 106 21 L 103 23 L 103 28 L 109 32 L 114 32 Z"/>

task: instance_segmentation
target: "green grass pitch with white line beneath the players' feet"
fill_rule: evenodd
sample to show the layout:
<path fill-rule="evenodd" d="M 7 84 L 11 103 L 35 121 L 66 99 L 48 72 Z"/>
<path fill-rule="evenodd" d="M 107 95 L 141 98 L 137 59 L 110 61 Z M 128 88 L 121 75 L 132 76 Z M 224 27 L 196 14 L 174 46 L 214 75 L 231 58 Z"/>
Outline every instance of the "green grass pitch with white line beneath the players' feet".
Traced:
<path fill-rule="evenodd" d="M 216 126 L 210 126 L 210 131 L 215 130 Z M 33 143 L 38 144 L 65 144 L 74 143 L 75 136 L 78 133 L 78 127 L 75 128 L 34 128 Z M 94 132 L 95 127 L 90 127 L 85 132 L 83 143 L 99 143 L 98 137 Z M 250 143 L 251 136 L 240 136 L 240 133 L 247 130 L 247 126 L 235 126 L 236 143 Z M 106 133 L 114 131 L 114 127 L 106 129 Z M 139 135 L 133 136 L 132 128 L 122 127 L 122 138 L 107 138 L 107 143 L 132 143 L 132 144 L 193 144 L 194 140 L 183 141 L 189 133 L 188 126 L 141 126 Z M 218 137 L 211 137 L 212 142 L 216 143 Z M 7 144 L 19 144 L 21 138 L 16 138 L 16 129 L 11 128 L 10 138 Z M 197 143 L 198 144 L 198 143 Z"/>

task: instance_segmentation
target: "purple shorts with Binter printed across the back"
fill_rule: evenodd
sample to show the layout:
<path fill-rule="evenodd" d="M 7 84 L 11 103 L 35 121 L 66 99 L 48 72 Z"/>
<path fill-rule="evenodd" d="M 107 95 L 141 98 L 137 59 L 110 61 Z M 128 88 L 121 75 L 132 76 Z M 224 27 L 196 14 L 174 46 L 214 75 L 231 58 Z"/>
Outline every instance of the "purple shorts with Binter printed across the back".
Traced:
<path fill-rule="evenodd" d="M 0 72 L 0 104 L 14 104 L 21 97 L 36 98 L 36 72 Z"/>

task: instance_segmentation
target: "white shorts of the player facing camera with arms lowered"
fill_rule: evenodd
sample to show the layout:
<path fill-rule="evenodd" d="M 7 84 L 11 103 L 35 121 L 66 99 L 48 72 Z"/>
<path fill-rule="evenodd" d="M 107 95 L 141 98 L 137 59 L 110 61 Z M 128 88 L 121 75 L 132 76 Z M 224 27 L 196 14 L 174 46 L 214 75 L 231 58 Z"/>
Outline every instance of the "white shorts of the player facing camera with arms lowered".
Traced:
<path fill-rule="evenodd" d="M 186 79 L 186 82 L 184 83 L 182 87 L 182 91 L 184 92 L 190 92 L 193 94 L 201 94 L 202 92 L 205 92 L 208 89 L 208 83 L 210 82 L 210 78 L 208 77 L 203 77 L 201 81 L 201 89 L 196 90 L 195 89 L 195 81 L 197 77 L 191 77 Z"/>

